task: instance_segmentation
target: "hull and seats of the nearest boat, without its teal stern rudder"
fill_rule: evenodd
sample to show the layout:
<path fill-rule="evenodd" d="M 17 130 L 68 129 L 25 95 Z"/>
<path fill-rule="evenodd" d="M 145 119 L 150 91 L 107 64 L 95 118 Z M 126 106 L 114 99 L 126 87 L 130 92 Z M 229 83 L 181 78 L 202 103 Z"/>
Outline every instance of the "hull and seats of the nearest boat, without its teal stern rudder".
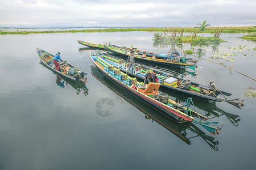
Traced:
<path fill-rule="evenodd" d="M 123 74 L 121 71 L 115 73 L 114 66 L 112 67 L 108 62 L 105 62 L 104 59 L 98 57 L 96 53 L 96 51 L 90 52 L 90 59 L 92 60 L 94 65 L 101 71 L 101 73 L 103 73 L 108 79 L 112 80 L 115 84 L 117 84 L 117 86 L 120 86 L 126 91 L 129 91 L 130 94 L 134 97 L 148 104 L 150 107 L 158 109 L 158 111 L 176 122 L 183 123 L 187 121 L 193 121 L 195 119 L 191 115 L 185 113 L 186 111 L 188 111 L 187 108 L 177 107 L 181 105 L 176 103 L 175 101 L 172 101 L 168 98 L 167 103 L 163 103 L 158 100 L 157 91 L 160 87 L 160 83 L 150 83 L 148 84 L 148 87 L 146 89 L 144 88 L 144 86 L 140 87 L 139 84 L 141 83 L 137 82 L 136 79 L 131 78 L 127 74 Z M 196 112 L 193 113 L 197 114 Z M 198 115 L 200 114 L 197 114 L 197 116 Z M 200 117 L 202 120 L 207 120 L 207 117 L 201 115 Z"/>

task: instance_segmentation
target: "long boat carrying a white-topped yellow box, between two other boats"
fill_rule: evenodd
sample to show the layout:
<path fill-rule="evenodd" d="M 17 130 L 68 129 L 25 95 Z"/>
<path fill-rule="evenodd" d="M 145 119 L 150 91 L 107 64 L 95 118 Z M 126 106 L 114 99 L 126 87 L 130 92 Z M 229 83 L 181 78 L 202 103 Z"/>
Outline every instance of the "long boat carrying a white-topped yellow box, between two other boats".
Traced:
<path fill-rule="evenodd" d="M 185 80 L 181 78 L 176 78 L 175 76 L 163 73 L 162 71 L 153 70 L 150 67 L 139 65 L 135 63 L 134 72 L 131 73 L 131 70 L 128 70 L 129 63 L 118 57 L 114 57 L 110 54 L 98 54 L 98 57 L 102 58 L 104 61 L 108 62 L 110 65 L 113 65 L 117 69 L 121 70 L 123 73 L 129 74 L 130 76 L 135 76 L 140 79 L 144 79 L 147 73 L 155 73 L 157 76 L 161 87 L 167 88 L 175 92 L 180 92 L 187 97 L 192 97 L 193 99 L 199 99 L 204 101 L 229 101 L 218 97 L 222 94 L 225 96 L 230 96 L 232 94 L 220 91 L 213 82 L 209 83 L 209 87 L 202 84 L 193 83 L 190 80 Z"/>

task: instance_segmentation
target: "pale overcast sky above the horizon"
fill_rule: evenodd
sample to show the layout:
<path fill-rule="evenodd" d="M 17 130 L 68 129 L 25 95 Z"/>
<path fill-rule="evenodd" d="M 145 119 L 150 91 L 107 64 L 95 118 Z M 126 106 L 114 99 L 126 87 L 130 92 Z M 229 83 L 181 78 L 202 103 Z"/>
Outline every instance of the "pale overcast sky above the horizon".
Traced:
<path fill-rule="evenodd" d="M 256 0 L 0 0 L 0 27 L 256 25 Z"/>

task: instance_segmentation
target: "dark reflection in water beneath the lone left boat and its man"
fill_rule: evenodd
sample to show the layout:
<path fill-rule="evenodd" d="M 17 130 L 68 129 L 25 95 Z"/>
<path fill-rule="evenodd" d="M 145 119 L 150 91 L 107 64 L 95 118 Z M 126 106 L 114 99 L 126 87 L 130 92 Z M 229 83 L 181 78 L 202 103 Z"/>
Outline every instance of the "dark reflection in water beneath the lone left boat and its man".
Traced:
<path fill-rule="evenodd" d="M 42 64 L 42 63 L 41 63 Z M 48 69 L 46 66 L 44 66 L 42 64 L 43 67 L 45 67 L 46 69 Z M 49 69 L 48 69 L 49 70 Z M 56 75 L 56 84 L 57 86 L 64 88 L 65 86 L 68 86 L 68 84 L 70 86 L 72 86 L 73 88 L 75 88 L 76 90 L 76 94 L 79 95 L 81 91 L 84 92 L 84 95 L 88 95 L 88 88 L 85 86 L 85 82 L 75 82 L 61 74 L 56 74 L 54 72 L 52 72 L 53 74 Z M 63 80 L 63 81 L 62 81 Z M 85 78 L 86 80 L 86 78 Z"/>

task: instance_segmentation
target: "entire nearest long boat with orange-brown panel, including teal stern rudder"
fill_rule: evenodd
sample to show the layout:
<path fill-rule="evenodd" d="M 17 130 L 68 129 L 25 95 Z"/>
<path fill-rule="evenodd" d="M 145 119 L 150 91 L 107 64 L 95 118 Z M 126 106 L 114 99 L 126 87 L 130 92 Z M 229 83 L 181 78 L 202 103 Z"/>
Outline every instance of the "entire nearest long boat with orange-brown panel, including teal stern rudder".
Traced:
<path fill-rule="evenodd" d="M 180 105 L 171 100 L 170 96 L 167 94 L 159 93 L 158 89 L 161 86 L 160 83 L 150 82 L 147 87 L 144 88 L 144 84 L 138 82 L 136 78 L 131 78 L 127 74 L 122 73 L 122 71 L 115 69 L 114 66 L 104 61 L 101 57 L 98 57 L 97 51 L 90 52 L 90 59 L 106 78 L 112 80 L 117 86 L 128 91 L 131 95 L 143 101 L 143 103 L 148 104 L 154 109 L 158 109 L 164 116 L 178 123 L 194 122 L 204 128 L 212 129 L 213 131 L 220 130 L 220 128 L 209 126 L 209 124 L 218 125 L 219 123 L 222 124 L 222 122 L 202 122 L 203 120 L 207 120 L 207 117 L 188 108 L 192 102 L 191 98 L 188 98 L 185 105 Z M 199 118 L 199 120 L 197 120 L 197 118 Z"/>

